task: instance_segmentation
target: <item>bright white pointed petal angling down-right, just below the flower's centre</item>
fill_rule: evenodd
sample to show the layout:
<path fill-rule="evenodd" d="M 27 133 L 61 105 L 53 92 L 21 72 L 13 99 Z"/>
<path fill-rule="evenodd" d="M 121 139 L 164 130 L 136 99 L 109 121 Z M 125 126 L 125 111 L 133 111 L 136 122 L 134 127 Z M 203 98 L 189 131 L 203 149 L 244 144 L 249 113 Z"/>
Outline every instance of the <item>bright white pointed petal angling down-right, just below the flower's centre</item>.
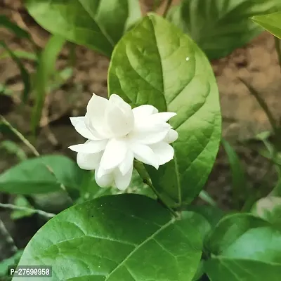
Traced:
<path fill-rule="evenodd" d="M 155 169 L 159 168 L 158 159 L 148 145 L 133 143 L 131 145 L 134 157 L 145 164 L 152 165 Z"/>

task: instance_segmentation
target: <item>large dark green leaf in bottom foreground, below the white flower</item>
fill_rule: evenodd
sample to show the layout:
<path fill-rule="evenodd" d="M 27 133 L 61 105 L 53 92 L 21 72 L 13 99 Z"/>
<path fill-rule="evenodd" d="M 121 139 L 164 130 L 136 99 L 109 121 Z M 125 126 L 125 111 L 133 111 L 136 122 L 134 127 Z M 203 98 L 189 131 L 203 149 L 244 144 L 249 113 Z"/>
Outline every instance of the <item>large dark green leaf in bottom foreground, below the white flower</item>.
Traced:
<path fill-rule="evenodd" d="M 188 220 L 126 194 L 58 214 L 32 238 L 19 265 L 53 266 L 52 280 L 190 281 L 201 254 L 200 235 Z"/>

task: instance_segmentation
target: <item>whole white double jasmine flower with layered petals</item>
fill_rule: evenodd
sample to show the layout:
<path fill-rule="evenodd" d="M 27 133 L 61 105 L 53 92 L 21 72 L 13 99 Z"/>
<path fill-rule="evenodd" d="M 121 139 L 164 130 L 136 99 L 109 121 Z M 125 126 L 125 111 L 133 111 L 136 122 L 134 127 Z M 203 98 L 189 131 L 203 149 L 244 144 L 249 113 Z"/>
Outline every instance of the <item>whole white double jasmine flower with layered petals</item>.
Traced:
<path fill-rule="evenodd" d="M 93 94 L 84 117 L 72 117 L 70 121 L 86 143 L 71 145 L 77 154 L 81 169 L 95 170 L 100 187 L 113 183 L 125 190 L 131 181 L 133 159 L 158 169 L 159 165 L 174 157 L 178 133 L 166 123 L 176 113 L 158 112 L 152 105 L 131 109 L 117 95 L 110 99 Z"/>

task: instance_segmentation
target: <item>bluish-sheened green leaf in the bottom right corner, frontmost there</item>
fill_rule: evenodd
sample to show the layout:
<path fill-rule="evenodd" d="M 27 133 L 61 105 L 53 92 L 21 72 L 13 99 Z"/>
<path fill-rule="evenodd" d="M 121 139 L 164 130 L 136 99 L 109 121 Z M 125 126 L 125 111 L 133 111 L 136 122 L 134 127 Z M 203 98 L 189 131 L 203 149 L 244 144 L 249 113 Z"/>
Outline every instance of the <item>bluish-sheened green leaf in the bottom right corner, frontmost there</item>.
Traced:
<path fill-rule="evenodd" d="M 211 281 L 278 281 L 281 276 L 280 230 L 250 229 L 204 266 Z"/>

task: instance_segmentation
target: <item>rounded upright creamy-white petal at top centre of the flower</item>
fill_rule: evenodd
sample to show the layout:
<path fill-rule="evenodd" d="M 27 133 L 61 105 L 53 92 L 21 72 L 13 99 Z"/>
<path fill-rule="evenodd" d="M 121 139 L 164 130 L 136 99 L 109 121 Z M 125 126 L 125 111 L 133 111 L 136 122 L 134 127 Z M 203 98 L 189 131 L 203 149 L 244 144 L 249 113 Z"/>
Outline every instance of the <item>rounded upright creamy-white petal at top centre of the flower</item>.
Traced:
<path fill-rule="evenodd" d="M 114 136 L 126 136 L 133 129 L 134 117 L 131 106 L 117 95 L 111 95 L 105 110 L 107 126 Z"/>

